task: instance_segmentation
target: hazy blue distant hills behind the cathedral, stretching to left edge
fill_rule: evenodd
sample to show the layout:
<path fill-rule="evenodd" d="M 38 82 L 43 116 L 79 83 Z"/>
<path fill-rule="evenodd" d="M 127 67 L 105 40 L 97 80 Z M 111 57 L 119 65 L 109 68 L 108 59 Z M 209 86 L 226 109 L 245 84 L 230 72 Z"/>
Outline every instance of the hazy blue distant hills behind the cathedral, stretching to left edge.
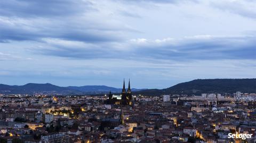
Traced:
<path fill-rule="evenodd" d="M 132 89 L 140 91 L 145 89 Z M 121 92 L 122 89 L 107 86 L 69 86 L 59 87 L 50 83 L 28 83 L 23 86 L 9 86 L 0 84 L 0 94 L 106 94 Z"/>

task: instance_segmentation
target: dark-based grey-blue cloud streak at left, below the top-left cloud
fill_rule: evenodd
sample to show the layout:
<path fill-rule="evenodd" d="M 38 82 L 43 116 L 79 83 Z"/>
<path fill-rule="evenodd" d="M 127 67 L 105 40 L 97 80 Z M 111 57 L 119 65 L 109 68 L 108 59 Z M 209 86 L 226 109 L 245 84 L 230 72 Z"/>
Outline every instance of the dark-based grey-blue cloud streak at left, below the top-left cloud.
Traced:
<path fill-rule="evenodd" d="M 100 27 L 103 26 L 98 25 L 99 28 L 97 29 L 97 24 L 95 24 L 95 27 L 90 27 L 89 24 L 83 24 L 83 22 L 74 24 L 65 21 L 66 23 L 62 23 L 63 20 L 51 19 L 40 19 L 38 21 L 34 19 L 25 20 L 25 22 L 17 22 L 18 20 L 19 19 L 11 19 L 11 22 L 6 20 L 7 22 L 2 21 L 1 23 L 0 17 L 0 41 L 42 41 L 42 38 L 60 38 L 95 43 L 122 40 L 122 36 L 116 34 L 122 31 L 122 28 L 108 28 L 108 26 L 105 26 L 104 29 L 101 29 Z M 41 22 L 42 25 L 38 26 Z M 123 30 L 127 29 L 123 28 Z"/>

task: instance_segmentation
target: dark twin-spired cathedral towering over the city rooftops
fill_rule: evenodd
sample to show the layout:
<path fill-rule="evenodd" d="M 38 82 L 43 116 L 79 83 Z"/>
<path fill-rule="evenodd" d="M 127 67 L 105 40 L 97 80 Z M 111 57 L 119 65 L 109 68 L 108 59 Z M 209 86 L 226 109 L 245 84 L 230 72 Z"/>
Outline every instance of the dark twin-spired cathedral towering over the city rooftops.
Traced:
<path fill-rule="evenodd" d="M 121 104 L 121 105 L 130 105 L 132 106 L 132 90 L 130 86 L 130 79 L 128 89 L 125 90 L 125 83 L 123 84 L 123 89 L 121 93 L 121 99 L 117 99 L 117 97 L 113 97 L 111 91 L 109 92 L 108 99 L 105 100 L 105 104 Z"/>

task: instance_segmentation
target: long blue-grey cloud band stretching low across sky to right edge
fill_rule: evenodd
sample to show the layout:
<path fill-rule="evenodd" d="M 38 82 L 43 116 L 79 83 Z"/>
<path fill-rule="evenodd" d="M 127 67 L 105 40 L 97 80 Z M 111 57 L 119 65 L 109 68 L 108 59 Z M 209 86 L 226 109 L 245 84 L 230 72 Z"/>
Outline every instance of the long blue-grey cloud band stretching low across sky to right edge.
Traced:
<path fill-rule="evenodd" d="M 238 42 L 239 41 L 239 42 Z M 182 39 L 174 43 L 156 44 L 120 44 L 124 49 L 113 48 L 111 44 L 97 44 L 98 47 L 52 45 L 54 48 L 39 49 L 41 54 L 80 58 L 116 58 L 126 60 L 143 60 L 143 58 L 189 61 L 220 59 L 256 59 L 256 37 L 222 37 L 210 39 Z M 36 49 L 37 51 L 37 49 Z"/>

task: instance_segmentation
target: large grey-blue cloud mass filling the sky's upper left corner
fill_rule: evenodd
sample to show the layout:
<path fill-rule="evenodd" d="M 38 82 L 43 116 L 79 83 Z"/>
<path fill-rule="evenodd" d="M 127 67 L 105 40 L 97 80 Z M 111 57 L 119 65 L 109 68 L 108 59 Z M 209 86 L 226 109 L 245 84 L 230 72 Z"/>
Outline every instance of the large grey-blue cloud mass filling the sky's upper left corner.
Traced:
<path fill-rule="evenodd" d="M 42 41 L 42 38 L 95 43 L 119 41 L 124 37 L 123 32 L 138 32 L 104 16 L 87 14 L 97 12 L 89 1 L 0 0 L 0 3 L 1 43 Z"/>

